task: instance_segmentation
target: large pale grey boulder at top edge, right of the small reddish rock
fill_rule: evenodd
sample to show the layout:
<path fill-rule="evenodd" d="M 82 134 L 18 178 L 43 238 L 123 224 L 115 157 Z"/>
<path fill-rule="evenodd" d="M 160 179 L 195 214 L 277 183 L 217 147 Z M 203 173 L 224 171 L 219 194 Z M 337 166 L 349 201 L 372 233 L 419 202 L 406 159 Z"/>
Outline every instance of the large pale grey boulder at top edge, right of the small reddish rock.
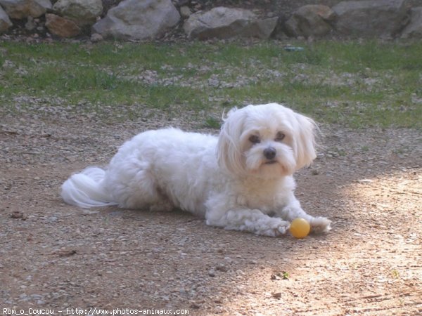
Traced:
<path fill-rule="evenodd" d="M 158 37 L 179 20 L 170 0 L 124 0 L 92 28 L 104 38 L 148 39 Z"/>

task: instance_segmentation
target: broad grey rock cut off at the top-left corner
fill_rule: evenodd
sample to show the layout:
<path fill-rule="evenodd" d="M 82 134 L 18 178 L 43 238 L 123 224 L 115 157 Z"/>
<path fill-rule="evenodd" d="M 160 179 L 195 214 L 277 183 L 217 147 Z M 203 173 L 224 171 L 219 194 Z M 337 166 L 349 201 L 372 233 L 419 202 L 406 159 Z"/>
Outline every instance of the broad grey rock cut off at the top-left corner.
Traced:
<path fill-rule="evenodd" d="M 0 4 L 12 19 L 38 18 L 51 9 L 50 0 L 0 0 Z"/>

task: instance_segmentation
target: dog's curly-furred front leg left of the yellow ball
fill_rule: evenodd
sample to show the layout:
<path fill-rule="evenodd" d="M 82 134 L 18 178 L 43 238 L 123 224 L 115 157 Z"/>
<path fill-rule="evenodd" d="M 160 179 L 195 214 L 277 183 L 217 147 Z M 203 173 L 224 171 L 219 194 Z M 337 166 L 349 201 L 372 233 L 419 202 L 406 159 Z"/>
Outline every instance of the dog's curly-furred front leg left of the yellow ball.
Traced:
<path fill-rule="evenodd" d="M 256 235 L 279 236 L 286 233 L 290 223 L 281 218 L 272 218 L 258 209 L 241 206 L 231 208 L 216 205 L 207 208 L 207 225 L 222 227 L 226 230 L 244 230 Z"/>

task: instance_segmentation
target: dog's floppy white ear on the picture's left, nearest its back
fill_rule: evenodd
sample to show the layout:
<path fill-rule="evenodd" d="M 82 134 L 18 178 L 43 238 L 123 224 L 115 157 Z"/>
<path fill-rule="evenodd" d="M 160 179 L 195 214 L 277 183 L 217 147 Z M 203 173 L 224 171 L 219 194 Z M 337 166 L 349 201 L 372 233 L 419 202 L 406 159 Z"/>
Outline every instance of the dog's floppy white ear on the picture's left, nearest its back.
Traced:
<path fill-rule="evenodd" d="M 217 143 L 217 161 L 220 168 L 236 175 L 245 171 L 240 143 L 245 117 L 245 111 L 238 110 L 237 107 L 231 109 L 224 119 Z"/>

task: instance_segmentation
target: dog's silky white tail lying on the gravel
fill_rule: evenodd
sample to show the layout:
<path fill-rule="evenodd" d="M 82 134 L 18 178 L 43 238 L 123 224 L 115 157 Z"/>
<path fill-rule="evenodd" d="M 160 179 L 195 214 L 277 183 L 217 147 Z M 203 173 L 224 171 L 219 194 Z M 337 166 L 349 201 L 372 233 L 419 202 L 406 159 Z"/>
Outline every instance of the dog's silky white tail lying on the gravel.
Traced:
<path fill-rule="evenodd" d="M 105 175 L 105 170 L 89 167 L 81 173 L 70 176 L 61 187 L 63 200 L 68 204 L 84 208 L 117 205 L 103 185 Z"/>

